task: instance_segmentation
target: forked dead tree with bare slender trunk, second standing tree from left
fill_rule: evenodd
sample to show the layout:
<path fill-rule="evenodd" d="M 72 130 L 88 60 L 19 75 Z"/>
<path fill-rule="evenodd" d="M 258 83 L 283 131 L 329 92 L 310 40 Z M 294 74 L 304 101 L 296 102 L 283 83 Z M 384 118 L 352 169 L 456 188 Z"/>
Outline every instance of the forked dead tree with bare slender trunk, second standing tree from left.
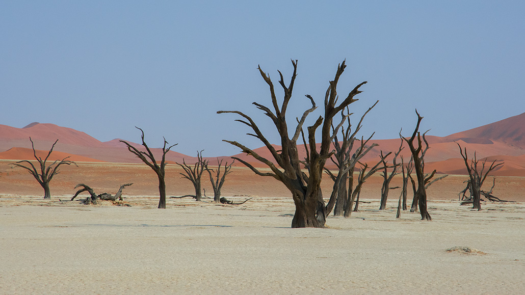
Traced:
<path fill-rule="evenodd" d="M 160 198 L 159 198 L 159 206 L 158 206 L 158 208 L 159 209 L 165 209 L 166 208 L 166 183 L 164 181 L 164 176 L 165 176 L 164 169 L 166 167 L 166 160 L 165 160 L 165 158 L 166 158 L 166 153 L 169 152 L 170 149 L 173 148 L 173 146 L 175 146 L 177 144 L 175 143 L 173 145 L 170 145 L 166 149 L 166 144 L 168 144 L 168 142 L 166 141 L 166 139 L 164 139 L 164 146 L 162 147 L 162 160 L 161 160 L 160 164 L 157 164 L 157 162 L 155 161 L 155 157 L 153 156 L 153 153 L 151 152 L 150 148 L 148 147 L 148 144 L 146 144 L 144 142 L 144 131 L 142 131 L 142 129 L 140 129 L 140 128 L 136 127 L 136 126 L 135 126 L 135 128 L 139 129 L 140 132 L 141 132 L 142 145 L 146 149 L 146 152 L 139 151 L 137 148 L 135 148 L 133 145 L 129 144 L 127 141 L 120 140 L 120 142 L 122 142 L 125 145 L 127 145 L 128 146 L 128 151 L 130 151 L 131 153 L 133 153 L 134 155 L 139 157 L 139 159 L 142 160 L 142 162 L 144 162 L 144 164 L 150 166 L 150 168 L 152 168 L 153 171 L 155 171 L 155 173 L 157 174 L 157 177 L 159 178 L 159 194 L 160 194 Z"/>

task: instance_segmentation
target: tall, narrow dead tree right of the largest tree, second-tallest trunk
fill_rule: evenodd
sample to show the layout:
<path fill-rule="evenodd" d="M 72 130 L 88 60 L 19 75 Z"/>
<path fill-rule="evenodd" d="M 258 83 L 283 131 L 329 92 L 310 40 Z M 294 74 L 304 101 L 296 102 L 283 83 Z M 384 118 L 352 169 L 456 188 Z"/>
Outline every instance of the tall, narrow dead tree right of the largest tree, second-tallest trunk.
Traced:
<path fill-rule="evenodd" d="M 412 177 L 411 179 L 412 179 L 412 185 L 414 187 L 414 200 L 417 199 L 417 203 L 419 204 L 419 213 L 421 213 L 421 220 L 432 220 L 432 217 L 430 217 L 430 214 L 428 214 L 428 211 L 427 211 L 425 185 L 428 183 L 428 181 L 432 177 L 434 177 L 434 174 L 436 173 L 436 171 L 434 170 L 434 172 L 432 172 L 430 176 L 425 177 L 425 173 L 424 173 L 425 162 L 424 162 L 423 157 L 425 155 L 425 152 L 428 150 L 428 142 L 425 139 L 425 133 L 426 133 L 425 132 L 423 133 L 423 141 L 426 144 L 426 148 L 425 150 L 423 150 L 423 143 L 421 141 L 422 136 L 419 133 L 419 124 L 421 123 L 421 120 L 423 119 L 423 117 L 419 115 L 417 110 L 416 110 L 416 114 L 417 114 L 417 124 L 416 124 L 416 128 L 414 129 L 414 133 L 412 134 L 411 138 L 409 139 L 405 138 L 404 136 L 401 135 L 401 132 L 400 132 L 400 136 L 404 141 L 406 141 L 406 143 L 408 143 L 408 148 L 410 148 L 410 151 L 412 153 L 414 168 L 416 170 L 416 176 L 417 176 L 417 189 L 415 189 L 415 182 Z M 414 145 L 414 140 L 416 139 L 416 137 L 417 137 L 417 147 Z"/>

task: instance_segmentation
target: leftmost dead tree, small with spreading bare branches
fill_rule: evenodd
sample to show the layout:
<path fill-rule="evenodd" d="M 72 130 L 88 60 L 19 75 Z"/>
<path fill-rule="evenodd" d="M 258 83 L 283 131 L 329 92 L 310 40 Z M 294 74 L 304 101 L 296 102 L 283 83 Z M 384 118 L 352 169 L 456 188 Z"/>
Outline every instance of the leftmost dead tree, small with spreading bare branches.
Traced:
<path fill-rule="evenodd" d="M 29 138 L 29 141 L 31 141 L 31 148 L 33 148 L 33 155 L 35 156 L 35 159 L 37 160 L 38 164 L 40 165 L 40 172 L 38 172 L 38 170 L 35 167 L 35 165 L 33 165 L 33 163 L 29 162 L 28 160 L 18 161 L 16 163 L 12 163 L 10 165 L 13 165 L 13 168 L 14 167 L 22 167 L 22 168 L 26 169 L 27 171 L 29 171 L 29 173 L 31 175 L 33 175 L 33 177 L 35 177 L 35 179 L 38 181 L 40 186 L 42 186 L 42 188 L 44 188 L 44 199 L 50 199 L 51 198 L 51 191 L 49 189 L 49 183 L 51 182 L 51 180 L 53 180 L 53 177 L 56 174 L 60 173 L 59 170 L 58 170 L 58 167 L 60 167 L 60 165 L 64 165 L 64 164 L 65 165 L 74 164 L 77 167 L 78 167 L 78 165 L 75 162 L 66 160 L 69 157 L 65 157 L 64 159 L 62 159 L 60 161 L 55 160 L 55 162 L 51 163 L 50 165 L 48 165 L 48 166 L 46 165 L 47 159 L 51 155 L 51 152 L 53 152 L 53 149 L 55 148 L 55 144 L 57 144 L 58 139 L 51 146 L 51 149 L 49 150 L 49 153 L 47 153 L 47 156 L 46 156 L 46 158 L 44 160 L 42 160 L 41 157 L 38 157 L 36 155 L 35 144 L 33 143 L 33 140 L 31 138 Z M 22 165 L 22 163 L 27 163 L 27 166 L 26 165 Z"/>

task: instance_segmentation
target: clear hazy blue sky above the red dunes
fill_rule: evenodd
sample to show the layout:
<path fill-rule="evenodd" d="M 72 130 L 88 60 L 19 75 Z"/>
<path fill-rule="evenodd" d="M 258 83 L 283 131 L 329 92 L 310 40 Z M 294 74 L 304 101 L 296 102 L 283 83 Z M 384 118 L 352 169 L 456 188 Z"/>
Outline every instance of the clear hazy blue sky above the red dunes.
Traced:
<path fill-rule="evenodd" d="M 276 85 L 298 75 L 290 130 L 322 106 L 338 64 L 352 121 L 379 100 L 358 136 L 446 136 L 525 112 L 523 1 L 6 1 L 0 0 L 0 124 L 76 129 L 194 156 L 262 146 L 235 122 L 250 115 L 278 144 L 257 67 Z M 305 127 L 322 114 L 310 114 Z"/>

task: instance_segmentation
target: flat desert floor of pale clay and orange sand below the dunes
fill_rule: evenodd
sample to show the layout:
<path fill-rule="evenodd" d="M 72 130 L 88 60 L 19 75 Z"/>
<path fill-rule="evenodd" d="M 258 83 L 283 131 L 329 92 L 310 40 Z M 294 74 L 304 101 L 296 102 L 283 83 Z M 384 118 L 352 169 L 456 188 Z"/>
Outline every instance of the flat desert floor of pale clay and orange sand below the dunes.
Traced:
<path fill-rule="evenodd" d="M 399 189 L 379 210 L 377 175 L 350 218 L 292 229 L 286 188 L 244 167 L 234 167 L 223 187 L 230 200 L 252 198 L 243 205 L 168 198 L 166 209 L 156 209 L 156 176 L 143 164 L 63 166 L 48 201 L 10 162 L 0 161 L 3 294 L 525 292 L 523 177 L 498 176 L 493 193 L 514 202 L 483 202 L 477 211 L 459 206 L 467 176 L 450 175 L 429 187 L 433 220 L 424 222 L 417 212 L 395 218 Z M 166 167 L 168 196 L 193 193 L 180 172 Z M 122 202 L 129 206 L 69 201 L 78 183 L 114 194 L 131 182 Z M 324 189 L 328 196 L 329 180 Z"/>

